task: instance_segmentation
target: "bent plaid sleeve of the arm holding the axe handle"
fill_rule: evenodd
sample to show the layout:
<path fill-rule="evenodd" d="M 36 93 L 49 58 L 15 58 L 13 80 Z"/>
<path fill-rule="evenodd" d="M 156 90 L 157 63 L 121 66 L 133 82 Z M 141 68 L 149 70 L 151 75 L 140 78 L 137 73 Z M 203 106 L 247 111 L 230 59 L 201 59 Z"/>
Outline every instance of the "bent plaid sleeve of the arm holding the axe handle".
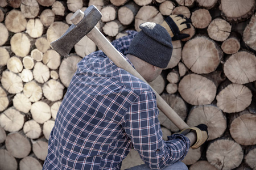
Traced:
<path fill-rule="evenodd" d="M 125 116 L 125 131 L 134 149 L 152 169 L 162 169 L 185 158 L 190 141 L 181 134 L 162 138 L 154 92 L 145 91 L 131 105 Z"/>

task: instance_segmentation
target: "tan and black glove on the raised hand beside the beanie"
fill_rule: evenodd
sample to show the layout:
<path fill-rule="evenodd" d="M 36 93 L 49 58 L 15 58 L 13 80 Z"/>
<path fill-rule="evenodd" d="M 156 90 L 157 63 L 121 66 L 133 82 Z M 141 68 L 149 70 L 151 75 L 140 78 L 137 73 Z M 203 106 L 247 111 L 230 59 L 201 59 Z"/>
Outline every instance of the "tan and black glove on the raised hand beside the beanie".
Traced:
<path fill-rule="evenodd" d="M 189 37 L 186 33 L 180 33 L 183 29 L 190 28 L 189 23 L 191 23 L 191 20 L 184 15 L 170 15 L 161 25 L 166 28 L 172 40 L 181 40 Z"/>

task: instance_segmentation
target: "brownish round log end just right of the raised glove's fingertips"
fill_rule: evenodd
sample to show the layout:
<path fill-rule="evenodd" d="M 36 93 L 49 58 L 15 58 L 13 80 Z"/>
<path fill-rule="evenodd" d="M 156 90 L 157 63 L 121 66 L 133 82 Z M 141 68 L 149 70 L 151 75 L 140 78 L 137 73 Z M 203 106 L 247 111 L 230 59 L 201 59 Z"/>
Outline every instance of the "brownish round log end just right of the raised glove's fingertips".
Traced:
<path fill-rule="evenodd" d="M 206 9 L 199 9 L 192 12 L 191 22 L 194 27 L 204 29 L 207 28 L 210 22 L 212 22 L 212 16 Z"/>

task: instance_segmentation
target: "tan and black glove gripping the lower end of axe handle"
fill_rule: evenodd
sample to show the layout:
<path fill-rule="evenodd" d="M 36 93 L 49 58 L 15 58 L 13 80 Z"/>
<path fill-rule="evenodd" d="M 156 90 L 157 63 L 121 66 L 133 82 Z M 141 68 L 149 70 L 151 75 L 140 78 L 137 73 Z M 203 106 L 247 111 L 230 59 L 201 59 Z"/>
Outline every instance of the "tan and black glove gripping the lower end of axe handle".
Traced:
<path fill-rule="evenodd" d="M 199 148 L 201 145 L 203 145 L 205 141 L 207 141 L 208 139 L 207 129 L 208 129 L 207 125 L 200 124 L 193 128 L 185 128 L 180 131 L 180 134 L 186 135 L 189 132 L 191 132 L 191 130 L 195 130 L 197 139 L 196 139 L 196 143 L 193 146 L 191 146 L 191 148 L 196 149 L 196 148 Z"/>

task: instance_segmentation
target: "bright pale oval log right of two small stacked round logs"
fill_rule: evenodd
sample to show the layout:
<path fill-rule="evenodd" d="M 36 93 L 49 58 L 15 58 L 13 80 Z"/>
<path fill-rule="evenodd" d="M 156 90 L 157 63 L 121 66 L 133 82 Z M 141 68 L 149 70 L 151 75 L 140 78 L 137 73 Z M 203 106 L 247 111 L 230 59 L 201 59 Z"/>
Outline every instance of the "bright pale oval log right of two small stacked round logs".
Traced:
<path fill-rule="evenodd" d="M 42 62 L 36 62 L 33 69 L 33 75 L 38 83 L 45 83 L 49 79 L 49 68 Z"/>

